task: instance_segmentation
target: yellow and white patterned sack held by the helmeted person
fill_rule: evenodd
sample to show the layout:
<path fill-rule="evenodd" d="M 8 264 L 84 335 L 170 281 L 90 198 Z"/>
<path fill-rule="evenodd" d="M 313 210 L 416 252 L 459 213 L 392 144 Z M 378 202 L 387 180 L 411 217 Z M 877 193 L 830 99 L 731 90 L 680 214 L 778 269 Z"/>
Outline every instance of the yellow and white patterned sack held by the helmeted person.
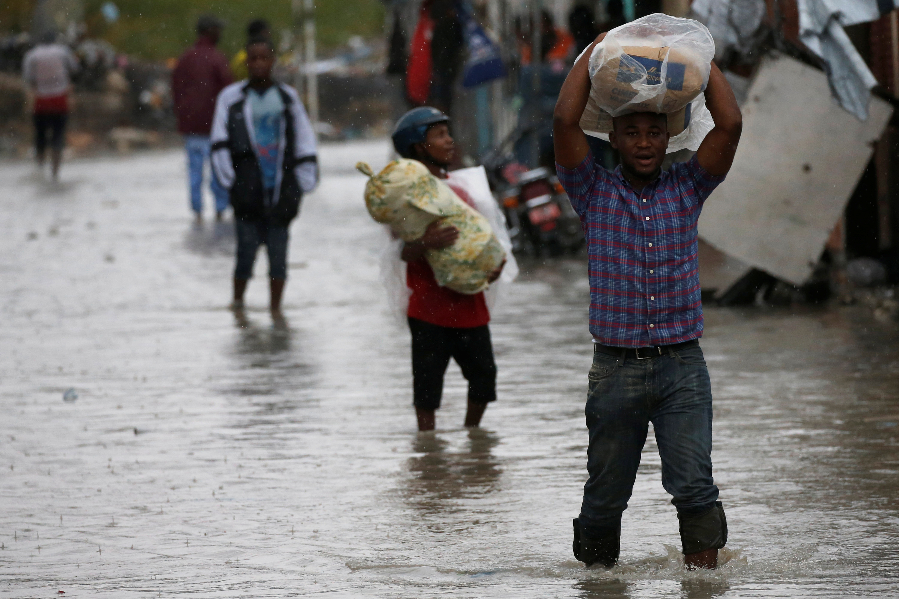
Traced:
<path fill-rule="evenodd" d="M 366 163 L 356 168 L 369 176 L 365 186 L 369 215 L 389 225 L 403 241 L 421 238 L 438 219 L 458 229 L 458 240 L 451 246 L 425 252 L 438 285 L 467 295 L 489 286 L 487 277 L 503 263 L 506 252 L 484 216 L 416 160 L 388 163 L 377 175 Z"/>

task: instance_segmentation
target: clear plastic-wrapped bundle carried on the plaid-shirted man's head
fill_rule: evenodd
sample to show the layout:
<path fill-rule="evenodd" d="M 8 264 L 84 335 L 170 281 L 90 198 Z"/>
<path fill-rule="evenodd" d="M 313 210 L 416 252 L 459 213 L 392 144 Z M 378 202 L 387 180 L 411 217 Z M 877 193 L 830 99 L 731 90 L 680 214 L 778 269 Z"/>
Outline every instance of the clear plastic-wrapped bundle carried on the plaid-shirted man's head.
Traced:
<path fill-rule="evenodd" d="M 663 13 L 616 27 L 590 56 L 591 99 L 619 117 L 683 109 L 708 84 L 715 40 L 705 25 Z"/>

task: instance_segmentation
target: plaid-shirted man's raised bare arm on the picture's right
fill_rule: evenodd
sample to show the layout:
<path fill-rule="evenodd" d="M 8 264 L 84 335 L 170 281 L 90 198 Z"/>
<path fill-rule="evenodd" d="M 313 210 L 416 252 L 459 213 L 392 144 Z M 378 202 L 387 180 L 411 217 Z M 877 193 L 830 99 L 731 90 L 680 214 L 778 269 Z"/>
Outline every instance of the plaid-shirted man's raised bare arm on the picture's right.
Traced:
<path fill-rule="evenodd" d="M 708 75 L 706 106 L 715 121 L 715 128 L 699 145 L 697 159 L 699 166 L 710 174 L 725 175 L 734 163 L 736 145 L 743 131 L 743 115 L 730 84 L 715 63 L 712 63 L 712 71 Z"/>

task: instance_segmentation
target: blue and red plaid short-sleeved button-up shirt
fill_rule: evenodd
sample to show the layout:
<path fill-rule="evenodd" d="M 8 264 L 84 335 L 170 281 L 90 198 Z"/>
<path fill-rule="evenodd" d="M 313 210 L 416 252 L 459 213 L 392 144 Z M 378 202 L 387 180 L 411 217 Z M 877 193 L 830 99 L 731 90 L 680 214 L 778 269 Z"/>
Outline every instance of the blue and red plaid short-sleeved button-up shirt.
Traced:
<path fill-rule="evenodd" d="M 574 170 L 556 164 L 581 216 L 590 259 L 590 332 L 603 345 L 646 348 L 702 336 L 697 221 L 724 176 L 694 155 L 636 193 L 587 154 Z"/>

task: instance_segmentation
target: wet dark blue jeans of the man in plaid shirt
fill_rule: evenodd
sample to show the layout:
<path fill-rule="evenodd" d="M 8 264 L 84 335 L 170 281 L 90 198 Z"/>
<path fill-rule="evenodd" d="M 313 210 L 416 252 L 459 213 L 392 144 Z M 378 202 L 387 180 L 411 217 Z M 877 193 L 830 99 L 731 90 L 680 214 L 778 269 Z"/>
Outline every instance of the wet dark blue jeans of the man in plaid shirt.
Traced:
<path fill-rule="evenodd" d="M 723 525 L 723 530 L 710 532 L 715 539 L 723 533 L 726 541 L 726 524 L 715 524 L 717 511 L 714 517 L 705 516 L 716 507 L 718 488 L 712 480 L 712 392 L 699 343 L 641 360 L 607 351 L 594 348 L 590 369 L 585 410 L 590 478 L 583 487 L 579 518 L 583 534 L 600 538 L 620 529 L 652 422 L 662 458 L 662 486 L 677 507 L 685 547 L 697 546 L 688 537 L 708 537 L 708 531 L 685 532 L 685 526 Z M 699 546 L 703 543 L 709 542 L 700 539 Z"/>

